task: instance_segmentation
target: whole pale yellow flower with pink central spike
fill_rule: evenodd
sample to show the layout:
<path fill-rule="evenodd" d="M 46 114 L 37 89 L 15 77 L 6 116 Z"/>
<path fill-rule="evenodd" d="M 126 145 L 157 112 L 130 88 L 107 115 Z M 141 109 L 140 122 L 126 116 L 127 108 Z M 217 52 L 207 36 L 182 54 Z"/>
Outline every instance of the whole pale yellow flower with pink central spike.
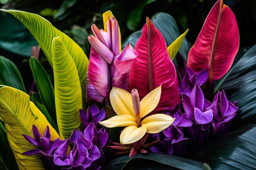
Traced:
<path fill-rule="evenodd" d="M 113 87 L 110 92 L 110 103 L 117 116 L 101 121 L 99 124 L 108 128 L 127 126 L 121 132 L 121 144 L 132 144 L 141 139 L 146 132 L 162 132 L 175 119 L 165 114 L 154 114 L 144 118 L 156 108 L 160 96 L 161 85 L 148 93 L 140 102 L 136 89 L 133 89 L 130 94 L 121 88 Z M 141 119 L 143 120 L 141 121 Z"/>

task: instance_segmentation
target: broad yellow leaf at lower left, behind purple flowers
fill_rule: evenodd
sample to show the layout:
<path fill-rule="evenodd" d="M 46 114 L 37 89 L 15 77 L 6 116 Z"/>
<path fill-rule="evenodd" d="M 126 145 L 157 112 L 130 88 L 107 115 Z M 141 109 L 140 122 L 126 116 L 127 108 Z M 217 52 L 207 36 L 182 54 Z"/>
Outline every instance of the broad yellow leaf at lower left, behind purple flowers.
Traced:
<path fill-rule="evenodd" d="M 49 124 L 43 113 L 38 110 L 33 102 L 29 101 L 29 95 L 9 86 L 0 88 L 0 117 L 4 121 L 7 137 L 13 150 L 20 170 L 44 170 L 38 155 L 22 155 L 31 149 L 35 149 L 22 134 L 33 136 L 32 125 L 36 125 L 41 135 L 48 125 L 52 135 L 51 140 L 59 136 Z"/>

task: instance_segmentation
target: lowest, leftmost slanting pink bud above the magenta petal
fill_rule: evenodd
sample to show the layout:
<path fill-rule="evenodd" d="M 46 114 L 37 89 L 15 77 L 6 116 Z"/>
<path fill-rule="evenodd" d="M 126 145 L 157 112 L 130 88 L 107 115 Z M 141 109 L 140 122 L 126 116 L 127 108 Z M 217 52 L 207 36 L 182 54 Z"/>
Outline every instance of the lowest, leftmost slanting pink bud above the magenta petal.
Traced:
<path fill-rule="evenodd" d="M 106 47 L 100 40 L 93 35 L 88 36 L 92 48 L 106 61 L 111 64 L 113 61 L 114 54 Z"/>

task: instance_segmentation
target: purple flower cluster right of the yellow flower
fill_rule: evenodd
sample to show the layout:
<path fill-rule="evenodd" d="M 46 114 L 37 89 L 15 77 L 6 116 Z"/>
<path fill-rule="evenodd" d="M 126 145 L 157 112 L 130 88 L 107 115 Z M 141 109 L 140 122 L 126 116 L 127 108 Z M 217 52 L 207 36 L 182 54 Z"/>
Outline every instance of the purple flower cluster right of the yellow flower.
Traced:
<path fill-rule="evenodd" d="M 230 122 L 238 110 L 237 103 L 228 101 L 224 91 L 218 91 L 212 103 L 205 99 L 200 86 L 207 79 L 208 70 L 194 73 L 186 68 L 184 78 L 179 84 L 184 113 L 178 109 L 172 114 L 175 121 L 170 127 L 151 135 L 152 141 L 160 141 L 158 145 L 150 148 L 151 151 L 182 156 L 186 153 L 187 139 L 193 141 L 197 147 L 228 132 Z"/>

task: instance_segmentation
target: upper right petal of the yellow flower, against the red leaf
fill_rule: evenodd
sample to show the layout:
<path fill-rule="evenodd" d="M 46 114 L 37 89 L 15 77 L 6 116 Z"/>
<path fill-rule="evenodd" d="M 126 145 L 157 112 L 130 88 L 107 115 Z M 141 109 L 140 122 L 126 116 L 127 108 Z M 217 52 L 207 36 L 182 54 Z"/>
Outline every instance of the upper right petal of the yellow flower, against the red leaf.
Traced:
<path fill-rule="evenodd" d="M 140 102 L 140 117 L 143 118 L 148 113 L 152 112 L 159 103 L 160 97 L 161 97 L 161 86 L 155 88 L 153 91 L 148 93 Z"/>

